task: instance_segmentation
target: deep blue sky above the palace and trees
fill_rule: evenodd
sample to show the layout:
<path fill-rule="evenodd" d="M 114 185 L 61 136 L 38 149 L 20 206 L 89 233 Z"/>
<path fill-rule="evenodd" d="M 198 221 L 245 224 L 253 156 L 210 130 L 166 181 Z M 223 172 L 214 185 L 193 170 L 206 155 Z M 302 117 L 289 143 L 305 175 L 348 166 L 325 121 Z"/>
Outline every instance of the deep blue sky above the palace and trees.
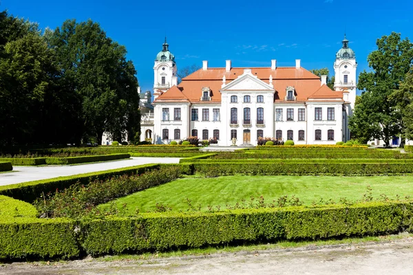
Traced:
<path fill-rule="evenodd" d="M 167 35 L 178 69 L 187 65 L 225 67 L 294 66 L 333 71 L 344 31 L 357 57 L 358 74 L 377 38 L 392 31 L 413 39 L 413 1 L 107 1 L 1 0 L 1 10 L 56 28 L 65 19 L 100 23 L 107 36 L 125 45 L 142 90 L 153 87 L 153 60 Z"/>

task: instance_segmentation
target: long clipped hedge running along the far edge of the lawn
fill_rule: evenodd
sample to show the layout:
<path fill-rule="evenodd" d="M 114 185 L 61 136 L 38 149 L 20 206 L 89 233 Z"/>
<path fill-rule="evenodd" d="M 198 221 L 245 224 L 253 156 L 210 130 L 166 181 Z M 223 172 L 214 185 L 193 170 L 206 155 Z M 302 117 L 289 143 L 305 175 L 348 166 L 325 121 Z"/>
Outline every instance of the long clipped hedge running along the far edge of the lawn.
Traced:
<path fill-rule="evenodd" d="M 193 163 L 195 172 L 209 177 L 220 175 L 403 175 L 413 173 L 410 163 L 391 164 L 344 164 L 344 163 L 300 163 L 280 162 L 268 164 L 260 162 L 210 162 Z"/>

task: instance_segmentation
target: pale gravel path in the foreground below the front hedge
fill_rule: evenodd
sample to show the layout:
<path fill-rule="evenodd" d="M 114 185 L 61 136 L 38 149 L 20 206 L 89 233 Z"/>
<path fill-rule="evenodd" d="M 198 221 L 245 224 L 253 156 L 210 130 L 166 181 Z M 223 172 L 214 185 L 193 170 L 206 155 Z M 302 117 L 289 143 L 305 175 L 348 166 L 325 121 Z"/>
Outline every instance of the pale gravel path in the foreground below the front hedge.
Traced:
<path fill-rule="evenodd" d="M 413 274 L 413 239 L 145 261 L 12 263 L 0 274 Z"/>

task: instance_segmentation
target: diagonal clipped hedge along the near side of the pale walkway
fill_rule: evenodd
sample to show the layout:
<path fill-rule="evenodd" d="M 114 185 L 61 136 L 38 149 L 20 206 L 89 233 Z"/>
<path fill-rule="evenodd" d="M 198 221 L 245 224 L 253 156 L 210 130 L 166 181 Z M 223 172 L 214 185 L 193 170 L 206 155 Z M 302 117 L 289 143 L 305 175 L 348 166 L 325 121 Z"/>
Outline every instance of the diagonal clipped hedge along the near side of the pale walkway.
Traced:
<path fill-rule="evenodd" d="M 31 203 L 43 193 L 47 194 L 48 192 L 56 192 L 56 189 L 63 190 L 72 184 L 76 184 L 77 182 L 79 184 L 87 185 L 89 184 L 89 181 L 96 179 L 109 179 L 110 177 L 118 175 L 135 175 L 143 173 L 145 170 L 151 170 L 158 167 L 159 164 L 146 164 L 67 177 L 55 177 L 53 179 L 28 181 L 21 184 L 11 184 L 8 186 L 0 186 L 0 195 L 6 195 L 14 199 L 21 199 L 22 201 L 28 201 Z"/>

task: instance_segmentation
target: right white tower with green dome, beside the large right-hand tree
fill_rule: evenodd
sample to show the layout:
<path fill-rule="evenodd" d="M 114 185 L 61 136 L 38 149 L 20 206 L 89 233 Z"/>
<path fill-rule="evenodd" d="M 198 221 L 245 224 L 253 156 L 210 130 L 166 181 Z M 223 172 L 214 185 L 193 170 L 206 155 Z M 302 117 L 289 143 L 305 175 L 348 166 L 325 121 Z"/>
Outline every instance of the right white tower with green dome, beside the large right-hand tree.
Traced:
<path fill-rule="evenodd" d="M 343 47 L 337 52 L 334 63 L 335 71 L 335 91 L 348 91 L 348 101 L 350 101 L 351 108 L 354 109 L 354 102 L 356 101 L 356 71 L 357 62 L 356 55 L 353 50 L 348 47 L 348 40 L 346 34 L 342 41 Z"/>

